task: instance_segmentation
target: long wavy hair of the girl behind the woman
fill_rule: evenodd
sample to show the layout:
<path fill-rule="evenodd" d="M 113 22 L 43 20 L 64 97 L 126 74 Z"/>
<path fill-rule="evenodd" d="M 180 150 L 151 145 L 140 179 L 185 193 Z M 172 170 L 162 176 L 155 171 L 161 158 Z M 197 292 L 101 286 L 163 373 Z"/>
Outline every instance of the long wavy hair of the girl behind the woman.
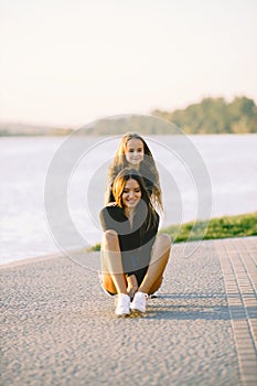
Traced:
<path fill-rule="evenodd" d="M 106 193 L 106 203 L 108 203 L 109 200 L 109 193 L 113 185 L 113 182 L 116 178 L 116 175 L 125 168 L 128 168 L 128 161 L 126 159 L 126 149 L 128 141 L 130 139 L 139 139 L 143 143 L 143 160 L 140 163 L 139 171 L 143 178 L 147 178 L 152 183 L 152 202 L 153 205 L 159 208 L 160 211 L 163 210 L 162 205 L 162 196 L 161 196 L 161 187 L 160 187 L 160 180 L 159 180 L 159 172 L 156 167 L 154 159 L 152 157 L 152 152 L 149 149 L 147 142 L 143 140 L 141 136 L 139 136 L 137 132 L 128 132 L 126 133 L 119 146 L 116 150 L 115 158 L 113 160 L 113 163 L 109 167 L 108 172 L 108 187 Z"/>

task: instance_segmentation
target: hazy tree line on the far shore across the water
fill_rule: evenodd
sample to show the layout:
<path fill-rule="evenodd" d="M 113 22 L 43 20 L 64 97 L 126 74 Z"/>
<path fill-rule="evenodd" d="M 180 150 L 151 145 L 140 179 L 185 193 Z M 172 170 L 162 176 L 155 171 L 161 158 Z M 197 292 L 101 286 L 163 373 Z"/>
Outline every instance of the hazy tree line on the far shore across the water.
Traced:
<path fill-rule="evenodd" d="M 204 98 L 184 109 L 149 115 L 120 115 L 85 125 L 81 136 L 114 136 L 128 131 L 141 135 L 185 133 L 253 133 L 257 132 L 257 106 L 245 96 L 227 103 L 224 98 Z M 68 136 L 71 128 L 38 127 L 22 124 L 1 124 L 0 136 Z"/>

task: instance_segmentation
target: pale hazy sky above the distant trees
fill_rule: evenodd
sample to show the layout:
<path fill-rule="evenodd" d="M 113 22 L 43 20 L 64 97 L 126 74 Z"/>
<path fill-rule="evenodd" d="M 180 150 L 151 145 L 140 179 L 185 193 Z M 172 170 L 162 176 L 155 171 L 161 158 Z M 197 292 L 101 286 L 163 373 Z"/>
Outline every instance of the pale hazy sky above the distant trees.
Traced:
<path fill-rule="evenodd" d="M 257 101 L 256 0 L 0 0 L 0 120 Z"/>

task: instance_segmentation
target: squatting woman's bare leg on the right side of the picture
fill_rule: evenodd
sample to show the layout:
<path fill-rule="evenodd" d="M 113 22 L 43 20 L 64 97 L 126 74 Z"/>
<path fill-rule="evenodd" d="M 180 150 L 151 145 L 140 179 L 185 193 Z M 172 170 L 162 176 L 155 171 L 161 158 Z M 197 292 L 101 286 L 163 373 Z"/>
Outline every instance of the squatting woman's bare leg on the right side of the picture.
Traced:
<path fill-rule="evenodd" d="M 152 247 L 150 265 L 138 291 L 151 294 L 160 288 L 170 249 L 170 237 L 165 234 L 158 236 Z"/>

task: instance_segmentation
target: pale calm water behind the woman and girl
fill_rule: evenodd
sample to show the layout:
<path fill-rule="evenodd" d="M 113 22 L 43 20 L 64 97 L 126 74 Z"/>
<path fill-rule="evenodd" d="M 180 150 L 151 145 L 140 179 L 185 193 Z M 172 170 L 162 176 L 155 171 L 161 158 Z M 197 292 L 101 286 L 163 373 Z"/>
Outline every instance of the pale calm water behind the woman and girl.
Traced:
<path fill-rule="evenodd" d="M 53 176 L 56 185 L 51 200 L 56 196 L 60 203 L 62 181 L 51 161 L 54 154 L 61 153 L 62 168 L 64 172 L 67 170 L 72 156 L 62 150 L 65 140 L 60 137 L 0 138 L 0 264 L 58 251 L 63 240 L 57 233 L 62 228 L 65 228 L 62 233 L 65 242 L 71 235 L 67 242 L 71 247 L 100 240 L 98 212 L 104 206 L 107 167 L 119 139 L 78 140 L 77 154 L 82 149 L 87 152 L 68 172 L 67 193 L 62 204 L 56 204 L 61 208 L 57 222 L 47 224 L 51 216 L 45 213 L 45 181 Z M 160 171 L 165 204 L 162 226 L 257 211 L 257 135 L 190 136 L 184 153 L 176 151 L 181 143 L 174 146 L 175 139 L 171 136 L 149 137 L 147 141 Z M 191 151 L 194 159 L 199 157 L 195 164 Z M 68 230 L 69 225 L 62 218 L 64 203 L 71 216 L 71 229 L 76 229 L 73 240 L 73 230 Z M 78 235 L 79 243 L 76 242 Z"/>

